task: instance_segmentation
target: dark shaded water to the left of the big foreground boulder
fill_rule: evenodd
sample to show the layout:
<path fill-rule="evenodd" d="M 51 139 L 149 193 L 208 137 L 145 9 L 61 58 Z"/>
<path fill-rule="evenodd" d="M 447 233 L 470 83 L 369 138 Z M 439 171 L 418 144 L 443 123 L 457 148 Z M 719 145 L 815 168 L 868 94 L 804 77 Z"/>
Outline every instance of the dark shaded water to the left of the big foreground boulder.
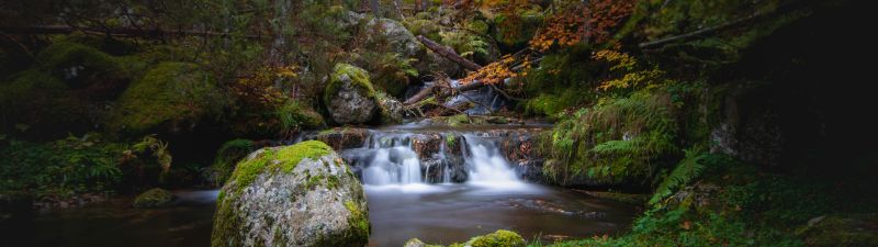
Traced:
<path fill-rule="evenodd" d="M 177 192 L 173 205 L 155 210 L 115 205 L 43 213 L 3 233 L 0 246 L 210 246 L 217 192 Z"/>

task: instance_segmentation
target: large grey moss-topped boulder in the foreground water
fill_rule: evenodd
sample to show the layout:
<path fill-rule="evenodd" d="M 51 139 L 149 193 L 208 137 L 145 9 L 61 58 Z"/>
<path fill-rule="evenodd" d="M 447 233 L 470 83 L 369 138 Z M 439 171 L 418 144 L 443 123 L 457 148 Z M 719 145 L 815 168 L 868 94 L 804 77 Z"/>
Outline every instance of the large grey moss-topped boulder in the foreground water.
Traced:
<path fill-rule="evenodd" d="M 329 146 L 306 141 L 241 160 L 219 192 L 211 246 L 368 244 L 362 186 Z"/>

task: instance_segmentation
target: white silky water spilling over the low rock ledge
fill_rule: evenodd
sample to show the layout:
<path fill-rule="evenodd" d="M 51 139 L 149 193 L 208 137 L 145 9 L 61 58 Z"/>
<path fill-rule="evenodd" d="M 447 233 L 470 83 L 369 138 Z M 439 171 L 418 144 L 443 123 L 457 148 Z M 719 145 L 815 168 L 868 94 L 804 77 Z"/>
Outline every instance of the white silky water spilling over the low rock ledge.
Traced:
<path fill-rule="evenodd" d="M 342 155 L 368 186 L 518 181 L 495 142 L 453 132 L 370 131 L 361 148 L 344 150 Z"/>

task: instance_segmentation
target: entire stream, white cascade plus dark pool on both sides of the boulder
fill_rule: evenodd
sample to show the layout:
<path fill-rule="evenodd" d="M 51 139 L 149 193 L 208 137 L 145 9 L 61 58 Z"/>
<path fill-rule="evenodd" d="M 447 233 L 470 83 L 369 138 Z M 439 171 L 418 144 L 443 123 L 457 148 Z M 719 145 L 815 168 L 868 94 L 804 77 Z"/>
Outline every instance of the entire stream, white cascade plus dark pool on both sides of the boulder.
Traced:
<path fill-rule="evenodd" d="M 522 162 L 507 158 L 504 141 L 530 130 L 393 126 L 370 130 L 361 145 L 340 150 L 367 192 L 369 246 L 402 246 L 413 237 L 447 245 L 496 229 L 528 239 L 624 231 L 631 206 L 521 179 Z M 0 246 L 210 246 L 217 190 L 175 193 L 176 203 L 162 209 L 133 209 L 128 201 L 43 213 Z"/>

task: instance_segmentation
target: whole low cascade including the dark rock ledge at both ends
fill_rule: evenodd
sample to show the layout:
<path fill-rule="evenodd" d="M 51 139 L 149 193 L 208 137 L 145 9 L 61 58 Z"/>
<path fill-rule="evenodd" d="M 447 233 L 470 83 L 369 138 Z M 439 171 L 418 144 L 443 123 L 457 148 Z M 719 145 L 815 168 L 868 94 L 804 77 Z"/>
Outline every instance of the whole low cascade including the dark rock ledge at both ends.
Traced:
<path fill-rule="evenodd" d="M 428 125 L 425 125 L 428 126 Z M 491 183 L 521 181 L 529 167 L 529 133 L 540 128 L 447 130 L 395 126 L 303 133 L 296 141 L 320 139 L 338 150 L 368 186 Z M 507 159 L 517 160 L 513 165 Z M 527 179 L 530 179 L 528 177 Z"/>

